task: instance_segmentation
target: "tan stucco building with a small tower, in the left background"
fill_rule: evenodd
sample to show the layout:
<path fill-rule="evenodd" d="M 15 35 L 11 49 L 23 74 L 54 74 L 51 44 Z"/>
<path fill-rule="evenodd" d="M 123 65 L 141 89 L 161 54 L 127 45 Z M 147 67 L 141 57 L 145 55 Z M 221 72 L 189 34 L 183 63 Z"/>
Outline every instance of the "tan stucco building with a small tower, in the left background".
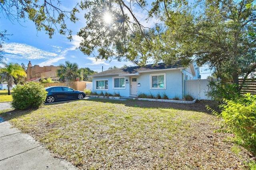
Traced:
<path fill-rule="evenodd" d="M 44 66 L 40 67 L 39 65 L 34 65 L 28 63 L 28 68 L 26 70 L 27 77 L 25 78 L 25 81 L 34 81 L 38 82 L 40 79 L 47 79 L 51 78 L 53 81 L 57 81 L 59 78 L 56 77 L 56 70 L 60 69 L 59 66 Z"/>

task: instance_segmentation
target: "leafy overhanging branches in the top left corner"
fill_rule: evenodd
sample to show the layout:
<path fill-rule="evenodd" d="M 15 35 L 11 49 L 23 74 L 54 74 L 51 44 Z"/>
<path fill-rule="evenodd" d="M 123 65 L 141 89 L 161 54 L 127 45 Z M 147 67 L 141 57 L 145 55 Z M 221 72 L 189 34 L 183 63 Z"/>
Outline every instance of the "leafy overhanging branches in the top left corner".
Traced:
<path fill-rule="evenodd" d="M 60 8 L 60 0 L 0 0 L 1 12 L 4 17 L 11 22 L 16 20 L 21 22 L 22 19 L 28 18 L 36 25 L 36 30 L 46 31 L 50 38 L 56 32 L 60 34 L 68 34 L 68 39 L 72 39 L 72 30 L 69 30 L 66 25 L 66 19 L 71 22 L 78 21 L 76 12 L 79 12 L 76 6 L 65 11 Z"/>

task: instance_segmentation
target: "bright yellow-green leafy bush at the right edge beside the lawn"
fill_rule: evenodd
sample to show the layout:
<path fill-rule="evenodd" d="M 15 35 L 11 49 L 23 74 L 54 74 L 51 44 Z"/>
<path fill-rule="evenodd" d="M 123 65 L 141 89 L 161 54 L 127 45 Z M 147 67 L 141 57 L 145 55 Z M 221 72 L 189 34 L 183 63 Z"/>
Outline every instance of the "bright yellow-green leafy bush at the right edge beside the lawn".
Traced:
<path fill-rule="evenodd" d="M 238 100 L 226 100 L 220 105 L 222 131 L 233 133 L 237 142 L 256 155 L 256 95 L 247 93 Z M 225 129 L 227 128 L 227 129 Z"/>

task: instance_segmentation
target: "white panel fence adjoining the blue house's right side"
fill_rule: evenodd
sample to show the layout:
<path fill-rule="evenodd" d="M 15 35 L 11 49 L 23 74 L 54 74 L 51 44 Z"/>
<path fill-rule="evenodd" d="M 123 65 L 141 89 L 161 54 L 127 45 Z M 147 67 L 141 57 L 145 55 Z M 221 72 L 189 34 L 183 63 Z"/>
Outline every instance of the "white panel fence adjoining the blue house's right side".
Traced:
<path fill-rule="evenodd" d="M 210 100 L 206 96 L 210 79 L 185 80 L 185 95 L 191 95 L 194 99 Z"/>

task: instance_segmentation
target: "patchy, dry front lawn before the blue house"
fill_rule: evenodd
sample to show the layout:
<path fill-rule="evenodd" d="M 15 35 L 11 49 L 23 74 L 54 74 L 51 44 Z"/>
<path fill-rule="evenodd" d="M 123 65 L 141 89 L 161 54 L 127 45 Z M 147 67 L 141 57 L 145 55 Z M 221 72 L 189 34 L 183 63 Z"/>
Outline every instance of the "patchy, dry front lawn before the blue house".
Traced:
<path fill-rule="evenodd" d="M 0 117 L 80 169 L 248 169 L 204 105 L 87 99 Z"/>

